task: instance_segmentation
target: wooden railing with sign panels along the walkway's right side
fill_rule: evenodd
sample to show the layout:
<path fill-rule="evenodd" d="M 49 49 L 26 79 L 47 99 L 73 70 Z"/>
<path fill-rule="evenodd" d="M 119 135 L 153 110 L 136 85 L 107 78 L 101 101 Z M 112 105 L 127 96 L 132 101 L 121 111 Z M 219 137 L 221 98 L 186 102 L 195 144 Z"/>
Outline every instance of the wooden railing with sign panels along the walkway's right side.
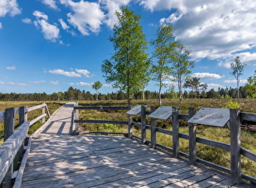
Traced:
<path fill-rule="evenodd" d="M 231 175 L 231 178 L 235 183 L 239 183 L 242 179 L 248 180 L 251 183 L 256 183 L 256 177 L 251 177 L 248 174 L 241 173 L 241 155 L 251 159 L 256 162 L 256 153 L 253 153 L 250 150 L 241 147 L 241 133 L 240 125 L 242 120 L 248 120 L 256 122 L 256 114 L 240 112 L 237 109 L 230 109 L 230 144 L 222 143 L 219 141 L 212 141 L 206 138 L 197 137 L 197 125 L 194 123 L 188 123 L 189 134 L 183 134 L 179 132 L 179 123 L 178 120 L 189 120 L 190 117 L 193 117 L 196 114 L 194 108 L 189 108 L 188 114 L 179 114 L 178 108 L 172 107 L 172 131 L 168 129 L 162 129 L 157 127 L 156 120 L 151 118 L 151 125 L 146 125 L 146 118 L 152 112 L 155 111 L 155 108 L 151 108 L 151 111 L 146 111 L 145 106 L 142 106 L 140 113 L 141 123 L 133 122 L 133 116 L 128 115 L 128 121 L 106 121 L 106 120 L 78 120 L 78 110 L 108 110 L 108 109 L 118 109 L 118 110 L 129 110 L 130 107 L 78 107 L 74 108 L 74 133 L 78 134 L 78 123 L 113 123 L 113 124 L 126 124 L 128 125 L 128 132 L 126 133 L 116 133 L 116 132 L 93 132 L 87 131 L 86 133 L 102 133 L 102 134 L 123 134 L 129 138 L 137 138 L 142 141 L 142 144 L 151 144 L 151 147 L 159 147 L 163 150 L 168 150 L 172 152 L 173 156 L 184 156 L 188 158 L 190 164 L 195 165 L 196 162 L 203 163 L 209 167 L 224 171 Z M 133 135 L 133 126 L 140 127 L 141 136 Z M 146 130 L 151 132 L 151 140 L 146 139 Z M 172 136 L 172 147 L 167 147 L 162 144 L 157 143 L 157 132 L 161 132 L 166 135 Z M 189 141 L 189 153 L 184 153 L 179 150 L 179 138 L 183 138 Z M 225 168 L 224 166 L 217 165 L 215 163 L 206 161 L 204 159 L 197 158 L 197 143 L 206 144 L 211 147 L 216 147 L 222 150 L 227 150 L 230 152 L 230 168 Z M 255 175 L 256 176 L 256 175 Z"/>

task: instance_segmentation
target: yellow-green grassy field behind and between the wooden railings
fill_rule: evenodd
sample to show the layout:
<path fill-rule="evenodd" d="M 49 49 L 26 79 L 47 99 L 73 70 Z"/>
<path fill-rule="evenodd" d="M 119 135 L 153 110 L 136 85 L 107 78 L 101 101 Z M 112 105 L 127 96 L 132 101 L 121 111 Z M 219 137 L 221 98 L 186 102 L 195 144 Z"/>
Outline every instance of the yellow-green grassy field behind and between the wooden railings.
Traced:
<path fill-rule="evenodd" d="M 197 111 L 200 108 L 224 108 L 225 105 L 230 101 L 230 99 L 184 99 L 184 102 L 180 104 L 178 99 L 163 99 L 163 106 L 178 106 L 180 114 L 188 114 L 188 108 L 195 108 Z M 244 112 L 256 113 L 256 99 L 233 99 L 233 102 L 238 102 L 240 105 L 240 110 Z M 42 102 L 0 102 L 0 111 L 4 111 L 5 108 L 15 107 L 18 108 L 22 105 L 35 106 L 40 105 Z M 50 108 L 50 114 L 56 111 L 62 103 L 61 102 L 46 102 L 48 108 Z M 126 101 L 82 101 L 79 102 L 80 106 L 126 106 Z M 132 105 L 148 105 L 159 107 L 156 100 L 133 100 Z M 149 108 L 148 108 L 149 109 Z M 33 111 L 32 111 L 33 112 Z M 31 113 L 32 113 L 31 112 Z M 126 111 L 79 111 L 79 118 L 81 120 L 121 120 L 126 121 L 127 115 Z M 29 120 L 32 120 L 41 113 L 39 111 L 29 114 Z M 133 121 L 140 122 L 139 116 L 134 116 Z M 147 124 L 150 125 L 150 120 L 147 120 Z M 35 131 L 40 125 L 40 123 L 35 124 L 29 129 L 29 133 Z M 164 129 L 172 129 L 170 120 L 157 120 L 157 126 Z M 111 124 L 94 124 L 86 123 L 80 124 L 81 130 L 91 130 L 91 131 L 106 131 L 106 132 L 127 132 L 127 127 L 122 125 L 111 125 Z M 180 132 L 188 134 L 187 122 L 180 120 Z M 140 136 L 140 129 L 134 129 L 133 133 Z M 2 136 L 2 124 L 0 124 L 0 137 Z M 147 132 L 148 140 L 150 140 L 150 132 Z M 214 141 L 221 141 L 230 144 L 230 132 L 227 128 L 218 128 L 213 126 L 198 126 L 197 137 L 208 138 Z M 164 135 L 162 133 L 157 133 L 157 143 L 172 147 L 172 137 Z M 0 143 L 1 144 L 1 143 Z M 242 131 L 242 147 L 256 153 L 256 133 Z M 180 150 L 188 153 L 188 141 L 180 139 Z M 217 149 L 214 147 L 209 147 L 203 144 L 197 144 L 197 156 L 201 159 L 214 162 L 218 165 L 223 165 L 230 168 L 230 153 Z M 245 157 L 242 157 L 242 173 L 249 174 L 255 177 L 256 174 L 256 162 L 252 162 Z"/>

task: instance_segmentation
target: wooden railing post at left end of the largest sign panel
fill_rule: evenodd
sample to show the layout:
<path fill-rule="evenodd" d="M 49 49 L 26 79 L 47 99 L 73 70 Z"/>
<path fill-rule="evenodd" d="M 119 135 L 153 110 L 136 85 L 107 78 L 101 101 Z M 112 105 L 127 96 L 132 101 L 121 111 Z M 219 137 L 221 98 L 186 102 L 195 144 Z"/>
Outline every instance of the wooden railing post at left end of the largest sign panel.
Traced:
<path fill-rule="evenodd" d="M 188 119 L 194 116 L 194 108 L 188 108 Z M 189 163 L 195 165 L 197 162 L 197 126 L 194 123 L 188 123 L 189 129 Z"/>

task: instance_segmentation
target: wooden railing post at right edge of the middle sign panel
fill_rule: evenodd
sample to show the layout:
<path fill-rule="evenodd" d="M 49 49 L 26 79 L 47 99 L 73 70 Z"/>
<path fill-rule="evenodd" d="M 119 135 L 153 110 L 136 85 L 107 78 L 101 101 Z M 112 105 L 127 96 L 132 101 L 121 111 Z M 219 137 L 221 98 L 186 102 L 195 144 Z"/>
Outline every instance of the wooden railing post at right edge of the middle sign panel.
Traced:
<path fill-rule="evenodd" d="M 178 157 L 179 152 L 178 129 L 178 107 L 172 107 L 172 148 L 175 157 Z"/>

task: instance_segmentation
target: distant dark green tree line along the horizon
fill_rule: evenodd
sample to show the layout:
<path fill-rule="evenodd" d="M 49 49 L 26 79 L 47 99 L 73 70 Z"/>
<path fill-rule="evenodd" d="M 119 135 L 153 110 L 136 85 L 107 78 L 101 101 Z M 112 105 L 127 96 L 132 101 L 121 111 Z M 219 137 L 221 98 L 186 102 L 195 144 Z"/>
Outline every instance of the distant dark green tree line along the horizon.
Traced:
<path fill-rule="evenodd" d="M 133 99 L 158 99 L 158 91 L 148 91 L 145 90 L 144 94 L 142 91 L 135 92 Z M 218 88 L 209 89 L 208 91 L 198 92 L 196 90 L 185 90 L 183 92 L 184 99 L 224 99 L 224 98 L 236 98 L 237 89 L 234 88 Z M 239 87 L 239 96 L 240 98 L 254 98 L 250 94 L 250 90 L 247 89 L 247 86 Z M 175 92 L 171 87 L 161 94 L 162 99 L 178 99 L 178 92 Z M 89 91 L 75 89 L 72 86 L 66 92 L 53 92 L 53 94 L 42 93 L 1 93 L 0 92 L 0 101 L 94 101 L 94 100 L 126 100 L 127 96 L 125 92 L 108 92 L 108 93 L 91 93 Z"/>

